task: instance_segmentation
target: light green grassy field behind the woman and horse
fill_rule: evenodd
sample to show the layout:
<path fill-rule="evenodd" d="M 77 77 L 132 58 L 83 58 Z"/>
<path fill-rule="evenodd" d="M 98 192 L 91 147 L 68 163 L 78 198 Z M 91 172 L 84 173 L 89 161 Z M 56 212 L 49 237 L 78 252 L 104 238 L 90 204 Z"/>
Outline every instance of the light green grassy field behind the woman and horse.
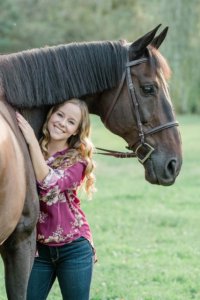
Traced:
<path fill-rule="evenodd" d="M 178 120 L 184 161 L 173 186 L 147 183 L 136 159 L 95 156 L 98 191 L 83 201 L 98 255 L 91 300 L 200 299 L 200 117 Z M 123 149 L 92 121 L 96 146 Z M 48 299 L 61 299 L 57 284 Z"/>

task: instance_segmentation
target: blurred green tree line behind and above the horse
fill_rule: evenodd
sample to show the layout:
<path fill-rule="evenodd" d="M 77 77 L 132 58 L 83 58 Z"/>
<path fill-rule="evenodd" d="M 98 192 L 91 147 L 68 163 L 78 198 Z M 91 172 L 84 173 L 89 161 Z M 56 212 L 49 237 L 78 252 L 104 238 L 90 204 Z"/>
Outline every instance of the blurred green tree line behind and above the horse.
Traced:
<path fill-rule="evenodd" d="M 161 52 L 179 113 L 200 113 L 200 0 L 0 0 L 0 53 L 74 41 L 129 42 L 169 26 Z"/>

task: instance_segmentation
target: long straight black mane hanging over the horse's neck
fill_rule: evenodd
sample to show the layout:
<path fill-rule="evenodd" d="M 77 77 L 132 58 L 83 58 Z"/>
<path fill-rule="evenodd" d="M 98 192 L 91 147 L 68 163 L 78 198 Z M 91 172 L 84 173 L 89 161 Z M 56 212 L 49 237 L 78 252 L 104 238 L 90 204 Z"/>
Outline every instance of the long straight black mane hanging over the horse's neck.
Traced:
<path fill-rule="evenodd" d="M 72 43 L 0 56 L 0 81 L 9 103 L 31 108 L 116 86 L 127 48 L 120 42 Z"/>

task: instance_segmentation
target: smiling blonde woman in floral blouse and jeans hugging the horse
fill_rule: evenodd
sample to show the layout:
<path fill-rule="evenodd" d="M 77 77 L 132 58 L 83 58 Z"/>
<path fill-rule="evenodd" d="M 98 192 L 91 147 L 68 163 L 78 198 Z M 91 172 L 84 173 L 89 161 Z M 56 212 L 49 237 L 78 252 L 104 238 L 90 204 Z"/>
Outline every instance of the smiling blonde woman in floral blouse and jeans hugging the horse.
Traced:
<path fill-rule="evenodd" d="M 33 129 L 16 113 L 36 175 L 40 217 L 37 251 L 27 299 L 46 299 L 58 279 L 65 300 L 88 300 L 93 268 L 90 227 L 77 190 L 94 191 L 93 145 L 86 104 L 71 99 L 51 108 L 38 143 Z"/>

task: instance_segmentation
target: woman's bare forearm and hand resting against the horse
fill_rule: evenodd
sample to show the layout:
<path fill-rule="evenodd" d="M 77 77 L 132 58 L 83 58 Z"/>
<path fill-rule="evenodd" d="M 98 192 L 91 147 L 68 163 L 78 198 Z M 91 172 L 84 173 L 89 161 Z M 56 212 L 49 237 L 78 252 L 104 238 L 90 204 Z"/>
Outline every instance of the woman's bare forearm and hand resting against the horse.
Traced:
<path fill-rule="evenodd" d="M 21 129 L 23 136 L 26 140 L 26 143 L 29 146 L 29 151 L 30 151 L 36 179 L 38 181 L 42 181 L 48 175 L 49 167 L 45 162 L 45 159 L 43 157 L 42 151 L 40 149 L 40 145 L 35 136 L 33 128 L 24 119 L 24 117 L 18 112 L 16 113 L 16 117 L 17 117 L 19 128 Z"/>

